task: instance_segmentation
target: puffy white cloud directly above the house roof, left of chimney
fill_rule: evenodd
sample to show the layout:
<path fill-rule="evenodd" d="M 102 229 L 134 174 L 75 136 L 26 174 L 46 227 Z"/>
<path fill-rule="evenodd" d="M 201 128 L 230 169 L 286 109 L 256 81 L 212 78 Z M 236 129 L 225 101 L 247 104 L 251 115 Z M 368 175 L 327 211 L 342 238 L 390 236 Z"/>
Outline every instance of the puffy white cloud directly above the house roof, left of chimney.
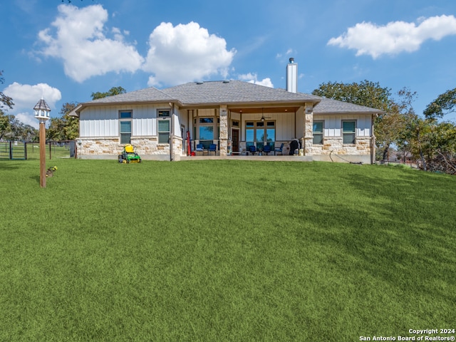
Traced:
<path fill-rule="evenodd" d="M 173 26 L 162 23 L 149 37 L 144 71 L 153 73 L 149 86 L 175 85 L 212 75 L 226 78 L 236 50 L 224 38 L 209 34 L 195 22 Z"/>

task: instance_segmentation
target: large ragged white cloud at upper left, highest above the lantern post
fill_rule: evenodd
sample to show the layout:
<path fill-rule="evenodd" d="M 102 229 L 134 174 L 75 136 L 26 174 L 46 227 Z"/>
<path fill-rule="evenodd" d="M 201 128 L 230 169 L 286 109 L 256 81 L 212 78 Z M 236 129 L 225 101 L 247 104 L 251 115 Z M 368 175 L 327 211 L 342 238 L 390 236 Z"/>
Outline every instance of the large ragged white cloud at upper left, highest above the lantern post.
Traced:
<path fill-rule="evenodd" d="M 113 28 L 114 39 L 104 35 L 108 11 L 101 5 L 78 9 L 72 5 L 58 6 L 58 17 L 51 28 L 38 33 L 44 44 L 44 56 L 61 58 L 67 76 L 77 82 L 114 71 L 135 72 L 144 58 L 132 45 L 124 42 L 120 29 Z M 128 31 L 124 31 L 128 34 Z"/>

